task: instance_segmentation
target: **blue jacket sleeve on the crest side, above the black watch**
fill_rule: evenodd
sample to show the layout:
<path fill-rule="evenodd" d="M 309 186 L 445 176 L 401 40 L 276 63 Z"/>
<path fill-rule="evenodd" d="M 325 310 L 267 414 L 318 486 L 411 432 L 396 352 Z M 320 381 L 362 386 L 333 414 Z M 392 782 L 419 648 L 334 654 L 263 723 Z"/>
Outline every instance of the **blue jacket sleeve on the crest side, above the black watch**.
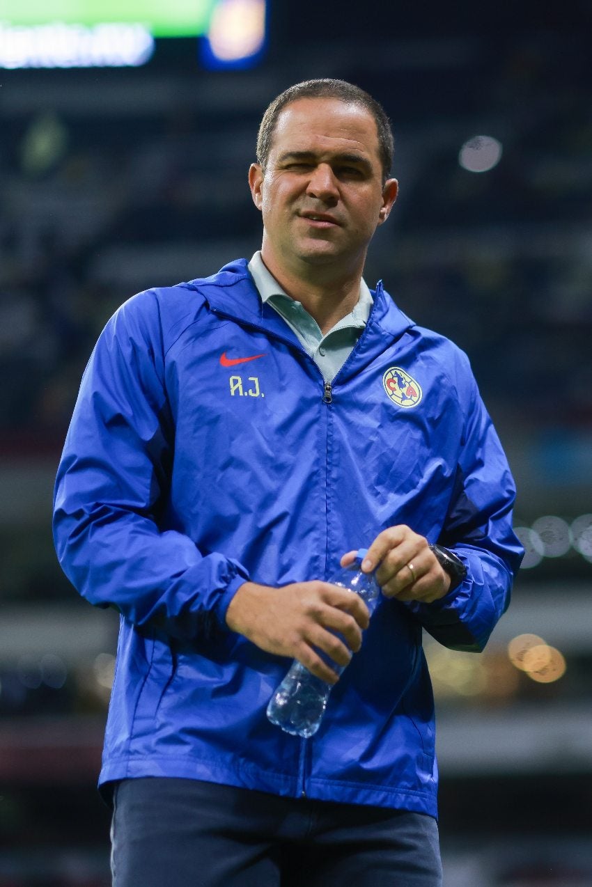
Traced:
<path fill-rule="evenodd" d="M 467 577 L 444 598 L 410 608 L 445 647 L 479 652 L 509 605 L 524 549 L 512 530 L 516 489 L 500 440 L 478 393 L 468 358 L 458 352 L 465 419 L 453 496 L 438 539 L 464 562 Z"/>

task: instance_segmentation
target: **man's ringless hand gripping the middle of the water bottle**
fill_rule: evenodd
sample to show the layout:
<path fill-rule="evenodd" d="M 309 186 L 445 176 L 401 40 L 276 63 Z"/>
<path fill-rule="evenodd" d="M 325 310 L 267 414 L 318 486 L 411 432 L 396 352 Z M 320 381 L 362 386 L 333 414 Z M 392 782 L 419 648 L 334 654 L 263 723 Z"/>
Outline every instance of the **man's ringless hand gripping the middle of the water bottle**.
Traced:
<path fill-rule="evenodd" d="M 367 606 L 357 594 L 316 581 L 280 588 L 245 582 L 226 611 L 226 623 L 233 632 L 244 634 L 267 653 L 297 659 L 328 684 L 335 684 L 338 677 L 318 650 L 338 665 L 347 665 L 351 653 L 361 647 L 362 630 L 369 619 Z"/>

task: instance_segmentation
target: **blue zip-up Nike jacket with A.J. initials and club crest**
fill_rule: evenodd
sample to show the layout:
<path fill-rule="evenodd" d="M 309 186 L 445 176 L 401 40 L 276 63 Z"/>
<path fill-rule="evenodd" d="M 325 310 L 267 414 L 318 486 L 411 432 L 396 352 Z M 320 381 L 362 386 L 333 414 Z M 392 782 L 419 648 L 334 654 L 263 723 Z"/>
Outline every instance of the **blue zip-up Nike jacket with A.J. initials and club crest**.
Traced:
<path fill-rule="evenodd" d="M 437 814 L 422 629 L 482 649 L 522 549 L 467 357 L 380 283 L 374 297 L 331 385 L 244 260 L 107 323 L 54 514 L 67 576 L 121 615 L 102 785 L 178 776 Z M 233 594 L 248 578 L 328 579 L 397 523 L 454 548 L 467 578 L 431 604 L 383 598 L 318 734 L 282 733 L 265 707 L 288 660 L 228 629 Z"/>

